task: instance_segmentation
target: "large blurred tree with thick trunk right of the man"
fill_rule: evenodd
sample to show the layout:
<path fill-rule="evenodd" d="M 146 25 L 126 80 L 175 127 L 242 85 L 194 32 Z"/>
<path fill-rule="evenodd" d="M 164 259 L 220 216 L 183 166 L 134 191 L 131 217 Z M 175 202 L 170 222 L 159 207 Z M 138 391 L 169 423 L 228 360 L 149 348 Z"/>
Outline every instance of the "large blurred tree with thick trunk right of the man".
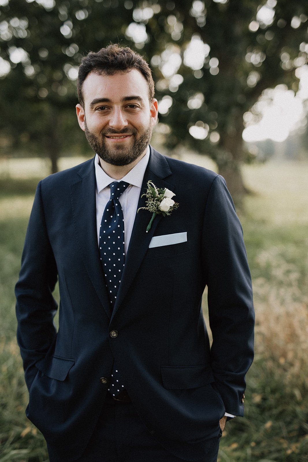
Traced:
<path fill-rule="evenodd" d="M 168 146 L 210 154 L 237 200 L 245 190 L 243 116 L 266 88 L 297 89 L 296 69 L 307 63 L 307 14 L 305 0 L 181 0 L 147 24 L 150 43 L 163 43 L 152 65 L 167 103 L 160 120 L 171 128 Z M 170 59 L 175 76 L 168 75 Z"/>

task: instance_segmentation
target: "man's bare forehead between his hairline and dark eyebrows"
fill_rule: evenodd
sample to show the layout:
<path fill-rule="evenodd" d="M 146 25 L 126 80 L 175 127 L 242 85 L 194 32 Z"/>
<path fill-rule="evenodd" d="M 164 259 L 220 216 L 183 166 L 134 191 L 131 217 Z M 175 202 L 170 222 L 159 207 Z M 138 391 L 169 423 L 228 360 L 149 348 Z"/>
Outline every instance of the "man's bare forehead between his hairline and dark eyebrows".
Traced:
<path fill-rule="evenodd" d="M 109 98 L 111 101 L 123 100 L 127 96 L 149 99 L 149 88 L 145 77 L 137 70 L 117 72 L 113 75 L 91 72 L 87 75 L 82 90 L 85 105 L 94 98 Z"/>

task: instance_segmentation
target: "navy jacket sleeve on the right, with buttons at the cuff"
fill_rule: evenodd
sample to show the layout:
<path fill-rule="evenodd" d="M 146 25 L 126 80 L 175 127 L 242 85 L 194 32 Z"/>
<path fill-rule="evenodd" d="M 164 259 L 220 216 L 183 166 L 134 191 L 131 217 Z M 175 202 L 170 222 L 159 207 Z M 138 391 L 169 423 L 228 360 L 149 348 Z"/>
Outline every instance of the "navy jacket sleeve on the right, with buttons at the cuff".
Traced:
<path fill-rule="evenodd" d="M 222 176 L 213 181 L 205 207 L 203 262 L 211 367 L 227 412 L 243 415 L 245 374 L 254 357 L 254 307 L 242 226 Z"/>

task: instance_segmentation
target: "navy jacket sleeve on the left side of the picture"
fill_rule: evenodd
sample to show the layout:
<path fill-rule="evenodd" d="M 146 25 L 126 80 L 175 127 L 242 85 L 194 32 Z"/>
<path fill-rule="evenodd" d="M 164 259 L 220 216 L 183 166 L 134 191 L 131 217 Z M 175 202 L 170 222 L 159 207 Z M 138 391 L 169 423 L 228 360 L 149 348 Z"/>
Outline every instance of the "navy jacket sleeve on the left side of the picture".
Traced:
<path fill-rule="evenodd" d="M 39 182 L 15 286 L 17 341 L 28 389 L 36 376 L 35 363 L 45 356 L 56 338 L 53 319 L 57 303 L 52 296 L 56 281 L 57 268 L 48 239 Z"/>

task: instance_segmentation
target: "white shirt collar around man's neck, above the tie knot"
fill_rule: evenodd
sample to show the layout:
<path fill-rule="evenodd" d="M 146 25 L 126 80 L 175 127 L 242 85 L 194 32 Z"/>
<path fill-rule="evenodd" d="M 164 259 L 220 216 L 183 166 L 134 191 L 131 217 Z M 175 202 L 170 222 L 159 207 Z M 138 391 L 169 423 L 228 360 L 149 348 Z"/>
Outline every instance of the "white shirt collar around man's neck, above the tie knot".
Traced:
<path fill-rule="evenodd" d="M 132 184 L 133 186 L 138 186 L 138 188 L 141 188 L 142 186 L 142 181 L 143 177 L 145 175 L 145 169 L 146 166 L 149 162 L 150 158 L 150 146 L 147 147 L 146 153 L 141 158 L 136 164 L 132 170 L 130 170 L 127 175 L 123 176 L 121 178 L 122 181 L 126 181 L 129 184 Z M 95 165 L 95 176 L 96 176 L 96 189 L 97 189 L 97 194 L 100 193 L 104 188 L 109 186 L 110 183 L 113 181 L 118 181 L 115 180 L 114 178 L 111 178 L 110 176 L 107 175 L 107 173 L 104 172 L 102 167 L 99 164 L 99 157 L 96 154 L 94 158 L 94 165 Z"/>

